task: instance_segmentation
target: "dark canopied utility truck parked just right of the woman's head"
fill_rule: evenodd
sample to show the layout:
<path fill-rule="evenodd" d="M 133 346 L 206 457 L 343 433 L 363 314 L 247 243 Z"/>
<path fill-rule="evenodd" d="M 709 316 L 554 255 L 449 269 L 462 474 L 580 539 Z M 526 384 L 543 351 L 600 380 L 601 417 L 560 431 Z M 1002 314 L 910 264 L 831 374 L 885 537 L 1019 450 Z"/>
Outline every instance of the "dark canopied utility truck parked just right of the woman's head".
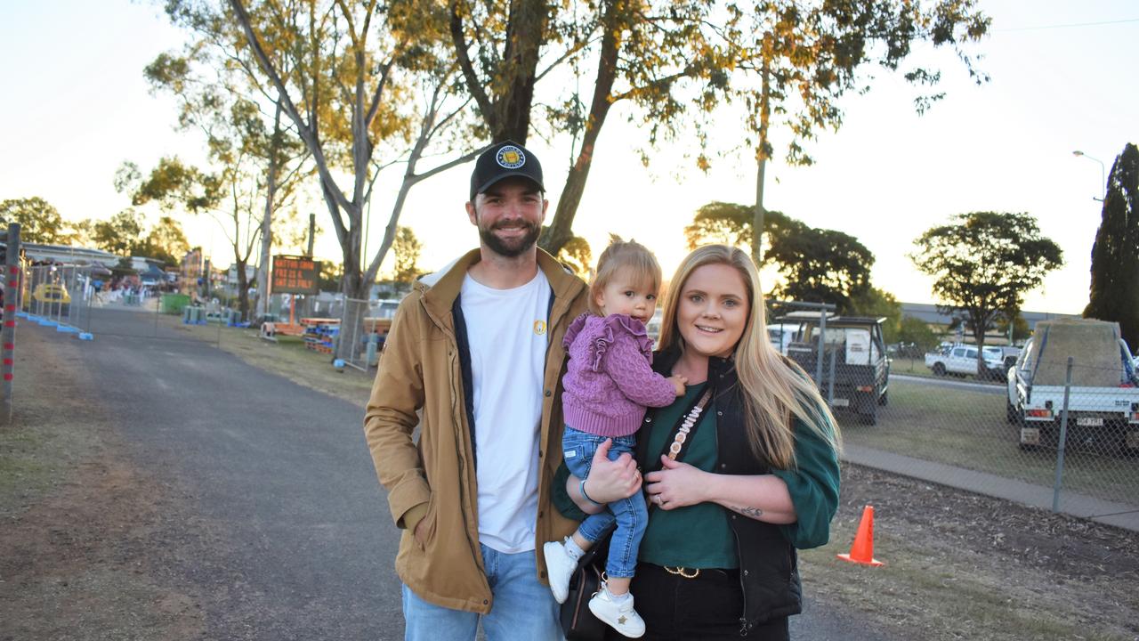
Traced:
<path fill-rule="evenodd" d="M 830 316 L 826 318 L 822 341 L 822 370 L 819 375 L 819 333 L 822 316 L 818 311 L 793 311 L 777 318 L 781 327 L 795 324 L 797 331 L 787 344 L 787 358 L 797 363 L 819 386 L 822 398 L 837 411 L 852 412 L 867 424 L 878 421 L 878 406 L 886 405 L 890 387 L 890 359 L 882 336 L 885 318 Z"/>

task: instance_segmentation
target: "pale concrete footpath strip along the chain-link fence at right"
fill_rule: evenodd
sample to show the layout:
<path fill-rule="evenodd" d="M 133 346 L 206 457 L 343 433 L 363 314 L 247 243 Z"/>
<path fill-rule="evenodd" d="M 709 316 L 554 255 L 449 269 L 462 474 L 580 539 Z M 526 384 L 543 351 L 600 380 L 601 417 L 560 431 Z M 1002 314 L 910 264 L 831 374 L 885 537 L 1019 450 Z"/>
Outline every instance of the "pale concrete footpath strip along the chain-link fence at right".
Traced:
<path fill-rule="evenodd" d="M 1051 487 L 858 445 L 847 444 L 844 448 L 843 460 L 849 463 L 956 487 L 975 494 L 1015 501 L 1033 508 L 1052 509 Z M 1065 489 L 1060 494 L 1060 512 L 1139 532 L 1139 509 L 1125 503 L 1104 501 Z"/>

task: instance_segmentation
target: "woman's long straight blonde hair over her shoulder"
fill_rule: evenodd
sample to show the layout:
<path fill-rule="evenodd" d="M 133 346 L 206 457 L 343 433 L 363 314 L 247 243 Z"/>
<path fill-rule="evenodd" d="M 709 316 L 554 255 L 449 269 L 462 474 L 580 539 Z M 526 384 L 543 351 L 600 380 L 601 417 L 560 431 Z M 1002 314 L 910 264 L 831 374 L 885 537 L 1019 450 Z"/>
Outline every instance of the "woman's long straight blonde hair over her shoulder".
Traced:
<path fill-rule="evenodd" d="M 705 245 L 681 261 L 664 302 L 661 351 L 679 349 L 683 352 L 686 349 L 677 326 L 677 308 L 688 277 L 705 265 L 735 268 L 747 290 L 747 324 L 732 358 L 743 387 L 745 428 L 752 451 L 773 468 L 790 469 L 795 464 L 793 416 L 826 439 L 836 452 L 841 449 L 838 424 L 814 382 L 802 367 L 785 359 L 768 339 L 760 274 L 744 251 L 728 245 Z"/>

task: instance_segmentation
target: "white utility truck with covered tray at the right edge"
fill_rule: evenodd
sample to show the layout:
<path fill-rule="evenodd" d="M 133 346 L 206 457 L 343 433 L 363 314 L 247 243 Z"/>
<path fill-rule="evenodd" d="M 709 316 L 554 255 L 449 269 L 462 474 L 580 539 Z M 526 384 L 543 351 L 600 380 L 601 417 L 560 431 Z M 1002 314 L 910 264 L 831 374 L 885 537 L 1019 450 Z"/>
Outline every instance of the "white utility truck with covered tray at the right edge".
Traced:
<path fill-rule="evenodd" d="M 1139 453 L 1139 379 L 1116 323 L 1064 318 L 1036 323 L 1008 372 L 1008 421 L 1021 448 L 1059 443 L 1067 359 L 1067 440 L 1099 453 Z"/>

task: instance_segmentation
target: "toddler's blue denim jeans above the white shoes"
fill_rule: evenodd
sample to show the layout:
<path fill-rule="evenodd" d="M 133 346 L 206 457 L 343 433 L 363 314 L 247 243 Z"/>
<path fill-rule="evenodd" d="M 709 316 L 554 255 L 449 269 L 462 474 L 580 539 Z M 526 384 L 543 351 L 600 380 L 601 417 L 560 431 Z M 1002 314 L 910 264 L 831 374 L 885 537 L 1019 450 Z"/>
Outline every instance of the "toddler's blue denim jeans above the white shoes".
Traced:
<path fill-rule="evenodd" d="M 580 479 L 589 477 L 589 468 L 593 463 L 597 446 L 608 438 L 613 439 L 613 446 L 609 447 L 609 461 L 616 461 L 625 452 L 636 455 L 636 436 L 597 436 L 566 425 L 562 435 L 562 456 L 565 459 L 570 473 Z M 637 550 L 645 536 L 645 526 L 648 525 L 648 508 L 645 505 L 645 495 L 638 492 L 629 498 L 607 504 L 606 510 L 587 517 L 577 527 L 577 532 L 585 539 L 597 543 L 597 539 L 605 534 L 613 521 L 617 522 L 617 528 L 613 532 L 613 538 L 609 539 L 609 555 L 605 561 L 605 574 L 612 578 L 628 578 L 636 573 Z"/>

